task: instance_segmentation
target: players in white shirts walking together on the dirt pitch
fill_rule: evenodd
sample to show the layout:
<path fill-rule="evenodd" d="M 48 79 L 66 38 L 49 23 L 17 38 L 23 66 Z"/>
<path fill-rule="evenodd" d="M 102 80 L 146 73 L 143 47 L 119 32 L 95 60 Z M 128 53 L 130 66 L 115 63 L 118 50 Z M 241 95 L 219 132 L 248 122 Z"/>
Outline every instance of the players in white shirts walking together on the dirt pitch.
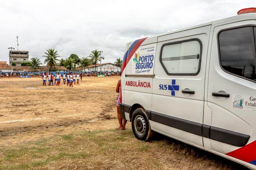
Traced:
<path fill-rule="evenodd" d="M 63 80 L 63 83 L 66 84 L 67 82 L 67 86 L 69 85 L 70 87 L 73 87 L 73 83 L 76 84 L 76 81 L 77 81 L 77 85 L 80 85 L 79 84 L 79 80 L 81 78 L 81 81 L 82 81 L 82 73 L 76 73 L 74 72 L 74 74 L 72 72 L 70 73 L 63 73 L 63 74 L 60 74 L 59 72 L 55 73 L 55 76 L 53 76 L 52 73 L 43 73 L 42 75 L 42 80 L 43 80 L 43 86 L 46 86 L 46 80 L 48 79 L 48 86 L 53 86 L 53 79 L 54 79 L 54 85 L 56 86 L 60 86 L 60 81 L 61 79 Z M 57 84 L 56 84 L 57 82 Z"/>

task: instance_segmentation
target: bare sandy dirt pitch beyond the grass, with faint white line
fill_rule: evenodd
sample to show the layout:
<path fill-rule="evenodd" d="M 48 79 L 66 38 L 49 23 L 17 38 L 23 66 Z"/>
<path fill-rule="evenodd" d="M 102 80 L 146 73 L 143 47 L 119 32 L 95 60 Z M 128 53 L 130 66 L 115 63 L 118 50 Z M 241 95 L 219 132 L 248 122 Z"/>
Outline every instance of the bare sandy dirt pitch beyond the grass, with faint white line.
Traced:
<path fill-rule="evenodd" d="M 114 128 L 118 79 L 83 77 L 80 85 L 69 87 L 63 81 L 42 86 L 41 78 L 1 78 L 0 146 L 62 131 Z"/>

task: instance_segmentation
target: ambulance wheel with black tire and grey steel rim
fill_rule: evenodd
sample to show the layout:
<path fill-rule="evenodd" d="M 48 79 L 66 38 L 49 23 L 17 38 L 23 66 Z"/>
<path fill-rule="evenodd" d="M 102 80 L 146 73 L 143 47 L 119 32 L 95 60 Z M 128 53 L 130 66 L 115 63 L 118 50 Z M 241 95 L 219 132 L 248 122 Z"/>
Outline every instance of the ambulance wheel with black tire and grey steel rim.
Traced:
<path fill-rule="evenodd" d="M 132 114 L 131 127 L 134 136 L 139 140 L 147 141 L 153 135 L 146 112 L 142 108 L 136 109 Z"/>

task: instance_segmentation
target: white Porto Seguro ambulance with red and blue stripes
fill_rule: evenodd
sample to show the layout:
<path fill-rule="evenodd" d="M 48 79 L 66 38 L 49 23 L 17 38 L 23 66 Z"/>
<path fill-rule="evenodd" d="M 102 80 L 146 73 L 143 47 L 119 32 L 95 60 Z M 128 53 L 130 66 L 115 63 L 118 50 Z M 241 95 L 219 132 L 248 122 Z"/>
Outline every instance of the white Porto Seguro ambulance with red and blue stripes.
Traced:
<path fill-rule="evenodd" d="M 156 131 L 256 169 L 252 12 L 126 44 L 119 110 L 136 138 Z"/>

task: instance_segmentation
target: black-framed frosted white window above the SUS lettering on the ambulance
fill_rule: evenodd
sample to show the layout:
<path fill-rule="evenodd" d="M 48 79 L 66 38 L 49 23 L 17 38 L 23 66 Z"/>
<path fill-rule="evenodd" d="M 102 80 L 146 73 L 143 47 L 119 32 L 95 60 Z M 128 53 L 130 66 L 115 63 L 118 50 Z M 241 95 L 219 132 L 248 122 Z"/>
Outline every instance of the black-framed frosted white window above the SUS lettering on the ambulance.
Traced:
<path fill-rule="evenodd" d="M 160 63 L 168 75 L 197 75 L 201 49 L 199 39 L 166 43 L 161 47 Z"/>

